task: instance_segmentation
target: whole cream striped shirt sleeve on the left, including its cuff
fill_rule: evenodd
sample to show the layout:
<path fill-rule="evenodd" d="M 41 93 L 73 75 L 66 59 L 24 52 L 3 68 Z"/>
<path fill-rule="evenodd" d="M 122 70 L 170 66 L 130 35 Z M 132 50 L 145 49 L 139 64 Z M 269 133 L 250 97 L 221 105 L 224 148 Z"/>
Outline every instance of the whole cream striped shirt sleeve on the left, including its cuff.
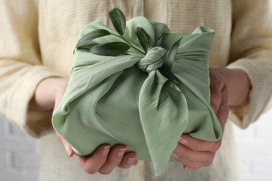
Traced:
<path fill-rule="evenodd" d="M 59 74 L 42 65 L 36 1 L 1 1 L 0 113 L 32 136 L 51 128 L 52 112 L 29 113 L 36 86 Z"/>

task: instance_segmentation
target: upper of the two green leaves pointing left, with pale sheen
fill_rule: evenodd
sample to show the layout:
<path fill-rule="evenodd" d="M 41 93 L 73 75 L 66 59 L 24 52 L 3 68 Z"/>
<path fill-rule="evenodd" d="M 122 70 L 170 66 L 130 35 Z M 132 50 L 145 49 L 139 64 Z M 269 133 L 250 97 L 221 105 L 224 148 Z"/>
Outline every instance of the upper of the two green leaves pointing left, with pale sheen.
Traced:
<path fill-rule="evenodd" d="M 109 36 L 111 33 L 105 29 L 96 29 L 89 33 L 86 33 L 86 35 L 82 36 L 80 40 L 78 40 L 77 45 L 75 46 L 75 49 L 84 46 L 86 43 L 91 42 L 92 40 L 96 38 L 100 38 L 103 36 Z"/>

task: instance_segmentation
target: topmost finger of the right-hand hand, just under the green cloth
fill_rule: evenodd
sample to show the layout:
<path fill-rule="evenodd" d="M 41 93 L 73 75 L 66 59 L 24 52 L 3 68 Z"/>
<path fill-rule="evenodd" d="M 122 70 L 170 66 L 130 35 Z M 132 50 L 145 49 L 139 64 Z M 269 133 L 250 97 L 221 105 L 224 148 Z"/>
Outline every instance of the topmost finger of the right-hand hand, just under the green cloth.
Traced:
<path fill-rule="evenodd" d="M 195 139 L 188 134 L 183 134 L 181 136 L 181 139 L 179 139 L 179 143 L 190 148 L 190 150 L 208 152 L 216 152 L 217 150 L 219 150 L 221 142 L 221 139 L 218 141 L 204 141 L 200 139 Z"/>

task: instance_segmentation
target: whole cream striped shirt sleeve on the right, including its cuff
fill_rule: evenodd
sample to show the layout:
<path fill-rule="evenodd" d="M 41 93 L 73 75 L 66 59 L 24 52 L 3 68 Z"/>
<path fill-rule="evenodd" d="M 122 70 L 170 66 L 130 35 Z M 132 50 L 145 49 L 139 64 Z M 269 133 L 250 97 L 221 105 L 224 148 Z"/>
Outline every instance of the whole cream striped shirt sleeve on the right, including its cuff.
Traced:
<path fill-rule="evenodd" d="M 244 70 L 250 78 L 250 102 L 232 107 L 230 118 L 248 127 L 268 109 L 272 97 L 271 1 L 233 1 L 231 61 L 228 68 Z"/>

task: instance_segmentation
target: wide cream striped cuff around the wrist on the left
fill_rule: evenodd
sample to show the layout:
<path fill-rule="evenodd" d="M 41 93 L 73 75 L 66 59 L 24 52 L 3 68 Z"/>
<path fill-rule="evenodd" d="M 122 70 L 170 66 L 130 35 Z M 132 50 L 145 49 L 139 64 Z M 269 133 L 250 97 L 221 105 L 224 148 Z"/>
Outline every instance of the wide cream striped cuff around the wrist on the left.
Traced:
<path fill-rule="evenodd" d="M 42 65 L 33 66 L 20 77 L 22 81 L 17 81 L 8 95 L 6 118 L 34 137 L 45 134 L 52 127 L 52 111 L 31 113 L 27 111 L 36 87 L 40 81 L 48 77 L 60 77 L 60 74 Z"/>

